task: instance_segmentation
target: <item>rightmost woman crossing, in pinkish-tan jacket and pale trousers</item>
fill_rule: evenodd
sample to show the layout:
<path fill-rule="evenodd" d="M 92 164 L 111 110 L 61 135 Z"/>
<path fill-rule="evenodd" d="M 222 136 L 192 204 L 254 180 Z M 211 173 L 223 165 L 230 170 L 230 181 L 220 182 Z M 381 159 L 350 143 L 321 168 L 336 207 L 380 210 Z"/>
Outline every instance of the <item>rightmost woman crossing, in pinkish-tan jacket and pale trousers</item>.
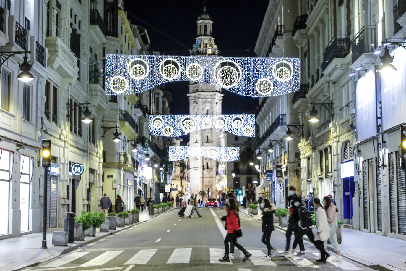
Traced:
<path fill-rule="evenodd" d="M 337 257 L 333 259 L 333 262 L 341 262 L 341 254 L 340 254 L 340 247 L 338 245 L 337 241 L 337 228 L 338 228 L 338 223 L 337 223 L 337 206 L 332 204 L 331 198 L 324 197 L 323 198 L 324 202 L 324 210 L 326 210 L 326 215 L 327 215 L 327 222 L 328 226 L 330 227 L 330 243 L 333 245 L 335 253 L 337 253 Z M 324 249 L 327 249 L 327 240 L 324 241 Z"/>

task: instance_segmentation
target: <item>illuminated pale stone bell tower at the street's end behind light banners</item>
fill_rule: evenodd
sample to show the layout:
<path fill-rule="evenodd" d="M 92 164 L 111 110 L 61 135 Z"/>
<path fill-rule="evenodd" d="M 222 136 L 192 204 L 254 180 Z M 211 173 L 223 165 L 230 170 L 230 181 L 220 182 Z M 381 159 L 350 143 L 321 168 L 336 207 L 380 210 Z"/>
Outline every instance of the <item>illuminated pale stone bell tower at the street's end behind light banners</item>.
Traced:
<path fill-rule="evenodd" d="M 190 50 L 191 55 L 218 56 L 220 51 L 214 44 L 212 35 L 212 17 L 207 14 L 206 7 L 203 7 L 202 14 L 197 19 L 196 43 Z M 190 81 L 189 85 L 189 106 L 190 115 L 220 115 L 222 93 L 221 88 L 216 85 L 207 85 Z M 220 130 L 205 129 L 190 133 L 189 145 L 191 147 L 220 146 Z M 190 168 L 190 193 L 199 191 L 211 192 L 212 197 L 217 197 L 217 161 L 202 156 L 189 158 Z M 205 169 L 201 168 L 205 166 Z"/>

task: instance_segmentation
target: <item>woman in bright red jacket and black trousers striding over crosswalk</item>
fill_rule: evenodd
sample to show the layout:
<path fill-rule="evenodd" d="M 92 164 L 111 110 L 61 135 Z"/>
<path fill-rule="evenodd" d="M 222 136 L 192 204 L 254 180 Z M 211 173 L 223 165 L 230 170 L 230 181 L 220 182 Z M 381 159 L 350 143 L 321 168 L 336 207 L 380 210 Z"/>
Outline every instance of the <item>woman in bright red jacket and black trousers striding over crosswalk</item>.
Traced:
<path fill-rule="evenodd" d="M 224 248 L 225 248 L 225 254 L 223 258 L 218 259 L 220 262 L 229 262 L 229 244 L 232 243 L 235 247 L 240 249 L 244 255 L 245 258 L 243 261 L 245 262 L 248 260 L 249 256 L 251 256 L 251 253 L 246 251 L 242 245 L 237 243 L 237 239 L 235 238 L 235 233 L 240 232 L 240 226 L 238 225 L 238 207 L 237 204 L 235 203 L 235 200 L 230 198 L 228 199 L 228 204 L 229 208 L 227 210 L 227 216 L 226 216 L 226 229 L 227 229 L 227 235 L 226 238 L 224 239 Z"/>

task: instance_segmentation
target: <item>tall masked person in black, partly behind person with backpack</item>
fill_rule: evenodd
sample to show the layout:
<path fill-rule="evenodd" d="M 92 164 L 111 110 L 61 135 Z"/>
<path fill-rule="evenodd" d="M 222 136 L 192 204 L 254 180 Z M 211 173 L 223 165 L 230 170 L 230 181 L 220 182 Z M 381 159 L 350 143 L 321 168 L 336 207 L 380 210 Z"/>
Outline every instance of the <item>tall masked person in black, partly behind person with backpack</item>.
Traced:
<path fill-rule="evenodd" d="M 290 237 L 292 236 L 292 232 L 294 232 L 295 236 L 296 233 L 299 230 L 299 216 L 297 212 L 297 206 L 293 204 L 293 201 L 298 195 L 296 194 L 296 187 L 291 185 L 289 186 L 289 196 L 287 196 L 287 204 L 289 208 L 289 219 L 288 219 L 288 224 L 287 224 L 287 230 L 286 230 L 286 249 L 285 252 L 283 252 L 283 255 L 289 254 L 289 247 L 290 247 Z M 302 238 L 298 238 L 298 244 L 300 247 L 300 253 L 298 253 L 298 257 L 304 256 L 304 245 L 303 245 L 303 240 Z"/>

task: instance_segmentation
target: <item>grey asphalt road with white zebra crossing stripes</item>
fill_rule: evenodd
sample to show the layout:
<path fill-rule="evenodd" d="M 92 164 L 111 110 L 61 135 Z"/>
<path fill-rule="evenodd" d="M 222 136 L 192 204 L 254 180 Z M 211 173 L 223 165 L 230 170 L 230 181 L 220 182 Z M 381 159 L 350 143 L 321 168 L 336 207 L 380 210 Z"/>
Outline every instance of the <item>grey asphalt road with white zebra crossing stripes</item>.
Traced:
<path fill-rule="evenodd" d="M 243 262 L 244 255 L 236 248 L 234 260 L 221 263 L 218 258 L 224 254 L 225 230 L 220 217 L 225 215 L 225 210 L 199 208 L 203 217 L 197 218 L 196 215 L 192 219 L 179 218 L 178 211 L 172 210 L 37 267 L 22 270 L 372 270 L 346 258 L 340 263 L 317 263 L 318 251 L 307 242 L 304 242 L 306 258 L 273 256 L 272 260 L 262 259 L 266 246 L 261 243 L 261 222 L 244 214 L 240 216 L 243 236 L 238 242 L 253 256 Z M 271 243 L 283 251 L 285 233 L 280 230 L 272 232 Z"/>

